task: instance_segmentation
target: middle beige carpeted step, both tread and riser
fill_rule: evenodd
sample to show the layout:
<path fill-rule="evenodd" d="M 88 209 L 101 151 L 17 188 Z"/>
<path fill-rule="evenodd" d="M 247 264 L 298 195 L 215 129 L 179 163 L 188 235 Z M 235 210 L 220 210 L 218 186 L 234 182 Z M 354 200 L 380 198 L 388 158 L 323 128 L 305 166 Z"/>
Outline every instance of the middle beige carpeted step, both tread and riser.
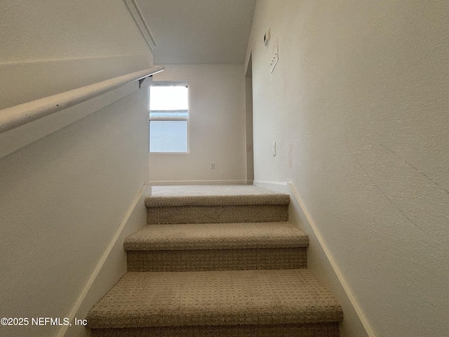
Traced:
<path fill-rule="evenodd" d="M 308 245 L 288 222 L 147 225 L 125 240 L 130 272 L 306 268 Z"/>

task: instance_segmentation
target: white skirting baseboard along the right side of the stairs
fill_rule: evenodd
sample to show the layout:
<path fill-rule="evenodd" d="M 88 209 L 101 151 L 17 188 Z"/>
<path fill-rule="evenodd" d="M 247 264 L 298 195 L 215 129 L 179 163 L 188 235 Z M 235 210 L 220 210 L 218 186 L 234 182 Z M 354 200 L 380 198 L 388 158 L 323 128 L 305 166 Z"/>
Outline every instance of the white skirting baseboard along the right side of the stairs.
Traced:
<path fill-rule="evenodd" d="M 342 275 L 332 253 L 328 249 L 314 219 L 307 211 L 293 184 L 290 182 L 255 181 L 254 185 L 290 195 L 290 221 L 309 234 L 308 268 L 329 288 L 342 305 L 344 321 L 340 324 L 341 336 L 376 337 L 368 319 L 358 305 L 354 294 L 344 279 L 344 275 Z"/>

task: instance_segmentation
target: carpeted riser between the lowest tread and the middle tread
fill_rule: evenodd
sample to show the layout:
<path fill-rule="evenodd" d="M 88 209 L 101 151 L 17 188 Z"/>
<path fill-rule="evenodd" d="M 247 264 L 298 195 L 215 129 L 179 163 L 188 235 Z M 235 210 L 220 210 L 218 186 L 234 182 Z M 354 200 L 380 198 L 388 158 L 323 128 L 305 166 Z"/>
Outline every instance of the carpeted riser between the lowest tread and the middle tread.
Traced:
<path fill-rule="evenodd" d="M 128 251 L 129 272 L 307 268 L 306 248 Z"/>

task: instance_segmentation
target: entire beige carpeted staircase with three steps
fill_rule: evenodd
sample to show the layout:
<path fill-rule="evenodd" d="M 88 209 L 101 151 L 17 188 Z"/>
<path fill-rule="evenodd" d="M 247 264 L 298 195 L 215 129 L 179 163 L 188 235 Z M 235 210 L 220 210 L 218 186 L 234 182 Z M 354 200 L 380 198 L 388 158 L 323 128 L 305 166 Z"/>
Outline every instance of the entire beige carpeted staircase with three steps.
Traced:
<path fill-rule="evenodd" d="M 340 304 L 307 270 L 289 196 L 260 187 L 153 187 L 128 272 L 88 313 L 93 337 L 340 336 Z"/>

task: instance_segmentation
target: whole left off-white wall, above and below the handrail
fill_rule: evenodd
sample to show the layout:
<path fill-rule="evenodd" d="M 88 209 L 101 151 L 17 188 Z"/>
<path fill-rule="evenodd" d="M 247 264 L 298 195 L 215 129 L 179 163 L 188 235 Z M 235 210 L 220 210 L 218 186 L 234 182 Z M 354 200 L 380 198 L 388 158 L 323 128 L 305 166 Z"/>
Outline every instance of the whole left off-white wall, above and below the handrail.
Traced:
<path fill-rule="evenodd" d="M 121 0 L 4 1 L 0 45 L 0 108 L 152 64 Z M 82 303 L 148 179 L 147 137 L 137 83 L 0 135 L 0 316 L 30 319 L 1 336 L 62 332 L 31 318 L 69 317 Z M 107 265 L 115 281 L 125 270 L 123 259 Z M 89 299 L 109 286 L 94 283 Z"/>

